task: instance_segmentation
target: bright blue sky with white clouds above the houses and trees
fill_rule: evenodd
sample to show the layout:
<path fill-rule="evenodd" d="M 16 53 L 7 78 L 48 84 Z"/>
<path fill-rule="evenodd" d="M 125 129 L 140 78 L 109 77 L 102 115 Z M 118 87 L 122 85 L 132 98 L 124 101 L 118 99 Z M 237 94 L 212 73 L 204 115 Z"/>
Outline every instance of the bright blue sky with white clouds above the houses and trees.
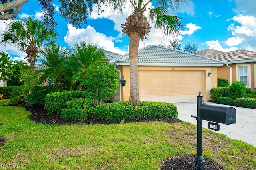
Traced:
<path fill-rule="evenodd" d="M 58 1 L 54 2 L 58 14 Z M 149 7 L 152 4 L 149 4 Z M 123 35 L 121 24 L 132 14 L 132 9 L 124 8 L 123 15 L 112 14 L 110 8 L 98 15 L 92 12 L 88 25 L 81 28 L 68 25 L 60 16 L 56 16 L 56 30 L 60 34 L 59 45 L 71 48 L 74 43 L 85 41 L 97 44 L 99 47 L 115 53 L 128 52 L 129 38 Z M 248 49 L 256 51 L 256 1 L 255 0 L 192 0 L 180 12 L 173 15 L 184 18 L 185 29 L 178 39 L 182 40 L 182 49 L 185 43 L 196 43 L 198 51 L 202 49 L 216 49 L 219 51 L 233 51 Z M 42 10 L 36 0 L 29 0 L 22 7 L 17 18 L 22 20 L 32 16 L 40 18 Z M 146 14 L 147 16 L 147 14 Z M 9 20 L 0 21 L 0 31 L 4 31 Z M 152 25 L 152 24 L 151 24 Z M 140 42 L 140 47 L 147 45 L 169 44 L 161 32 L 151 29 L 148 39 Z M 0 46 L 0 50 L 10 54 L 12 59 L 23 59 L 26 53 L 17 51 L 16 47 Z"/>

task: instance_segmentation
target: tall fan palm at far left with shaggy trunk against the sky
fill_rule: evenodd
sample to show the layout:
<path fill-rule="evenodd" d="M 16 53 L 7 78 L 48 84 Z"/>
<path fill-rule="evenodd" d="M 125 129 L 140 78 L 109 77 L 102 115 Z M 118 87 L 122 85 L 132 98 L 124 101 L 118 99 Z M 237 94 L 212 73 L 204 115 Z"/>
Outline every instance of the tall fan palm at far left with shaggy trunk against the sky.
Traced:
<path fill-rule="evenodd" d="M 26 52 L 25 59 L 30 64 L 30 72 L 34 72 L 39 48 L 46 44 L 54 45 L 57 38 L 58 33 L 54 29 L 48 29 L 44 22 L 27 18 L 23 21 L 12 20 L 2 34 L 1 44 L 13 45 Z"/>

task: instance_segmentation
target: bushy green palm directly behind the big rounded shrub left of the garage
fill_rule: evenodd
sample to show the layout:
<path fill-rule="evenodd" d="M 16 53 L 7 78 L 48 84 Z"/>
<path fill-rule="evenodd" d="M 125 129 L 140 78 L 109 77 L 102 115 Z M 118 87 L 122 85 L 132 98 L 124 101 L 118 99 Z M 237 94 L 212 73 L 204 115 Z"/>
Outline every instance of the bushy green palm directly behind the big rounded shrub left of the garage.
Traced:
<path fill-rule="evenodd" d="M 70 59 L 70 69 L 74 72 L 72 76 L 73 83 L 81 80 L 86 76 L 87 68 L 92 64 L 106 62 L 102 49 L 92 43 L 86 44 L 84 41 L 76 43 L 74 53 Z M 80 86 L 81 88 L 81 86 Z"/>

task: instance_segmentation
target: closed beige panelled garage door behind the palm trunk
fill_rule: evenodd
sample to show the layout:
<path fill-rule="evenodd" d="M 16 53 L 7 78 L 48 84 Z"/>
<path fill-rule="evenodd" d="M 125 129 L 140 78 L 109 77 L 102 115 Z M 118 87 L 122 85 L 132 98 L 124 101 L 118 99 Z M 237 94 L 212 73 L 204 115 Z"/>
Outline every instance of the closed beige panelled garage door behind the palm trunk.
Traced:
<path fill-rule="evenodd" d="M 140 100 L 196 102 L 204 90 L 203 71 L 139 70 Z"/>

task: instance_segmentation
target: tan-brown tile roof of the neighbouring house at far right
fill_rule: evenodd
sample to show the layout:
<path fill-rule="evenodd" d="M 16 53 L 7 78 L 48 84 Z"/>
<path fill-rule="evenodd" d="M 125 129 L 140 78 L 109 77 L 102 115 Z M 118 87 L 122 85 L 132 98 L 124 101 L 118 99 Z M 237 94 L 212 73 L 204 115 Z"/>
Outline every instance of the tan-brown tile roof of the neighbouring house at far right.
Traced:
<path fill-rule="evenodd" d="M 209 58 L 224 61 L 226 63 L 241 63 L 244 61 L 254 62 L 256 61 L 256 52 L 245 49 L 239 49 L 235 51 L 210 56 Z"/>

